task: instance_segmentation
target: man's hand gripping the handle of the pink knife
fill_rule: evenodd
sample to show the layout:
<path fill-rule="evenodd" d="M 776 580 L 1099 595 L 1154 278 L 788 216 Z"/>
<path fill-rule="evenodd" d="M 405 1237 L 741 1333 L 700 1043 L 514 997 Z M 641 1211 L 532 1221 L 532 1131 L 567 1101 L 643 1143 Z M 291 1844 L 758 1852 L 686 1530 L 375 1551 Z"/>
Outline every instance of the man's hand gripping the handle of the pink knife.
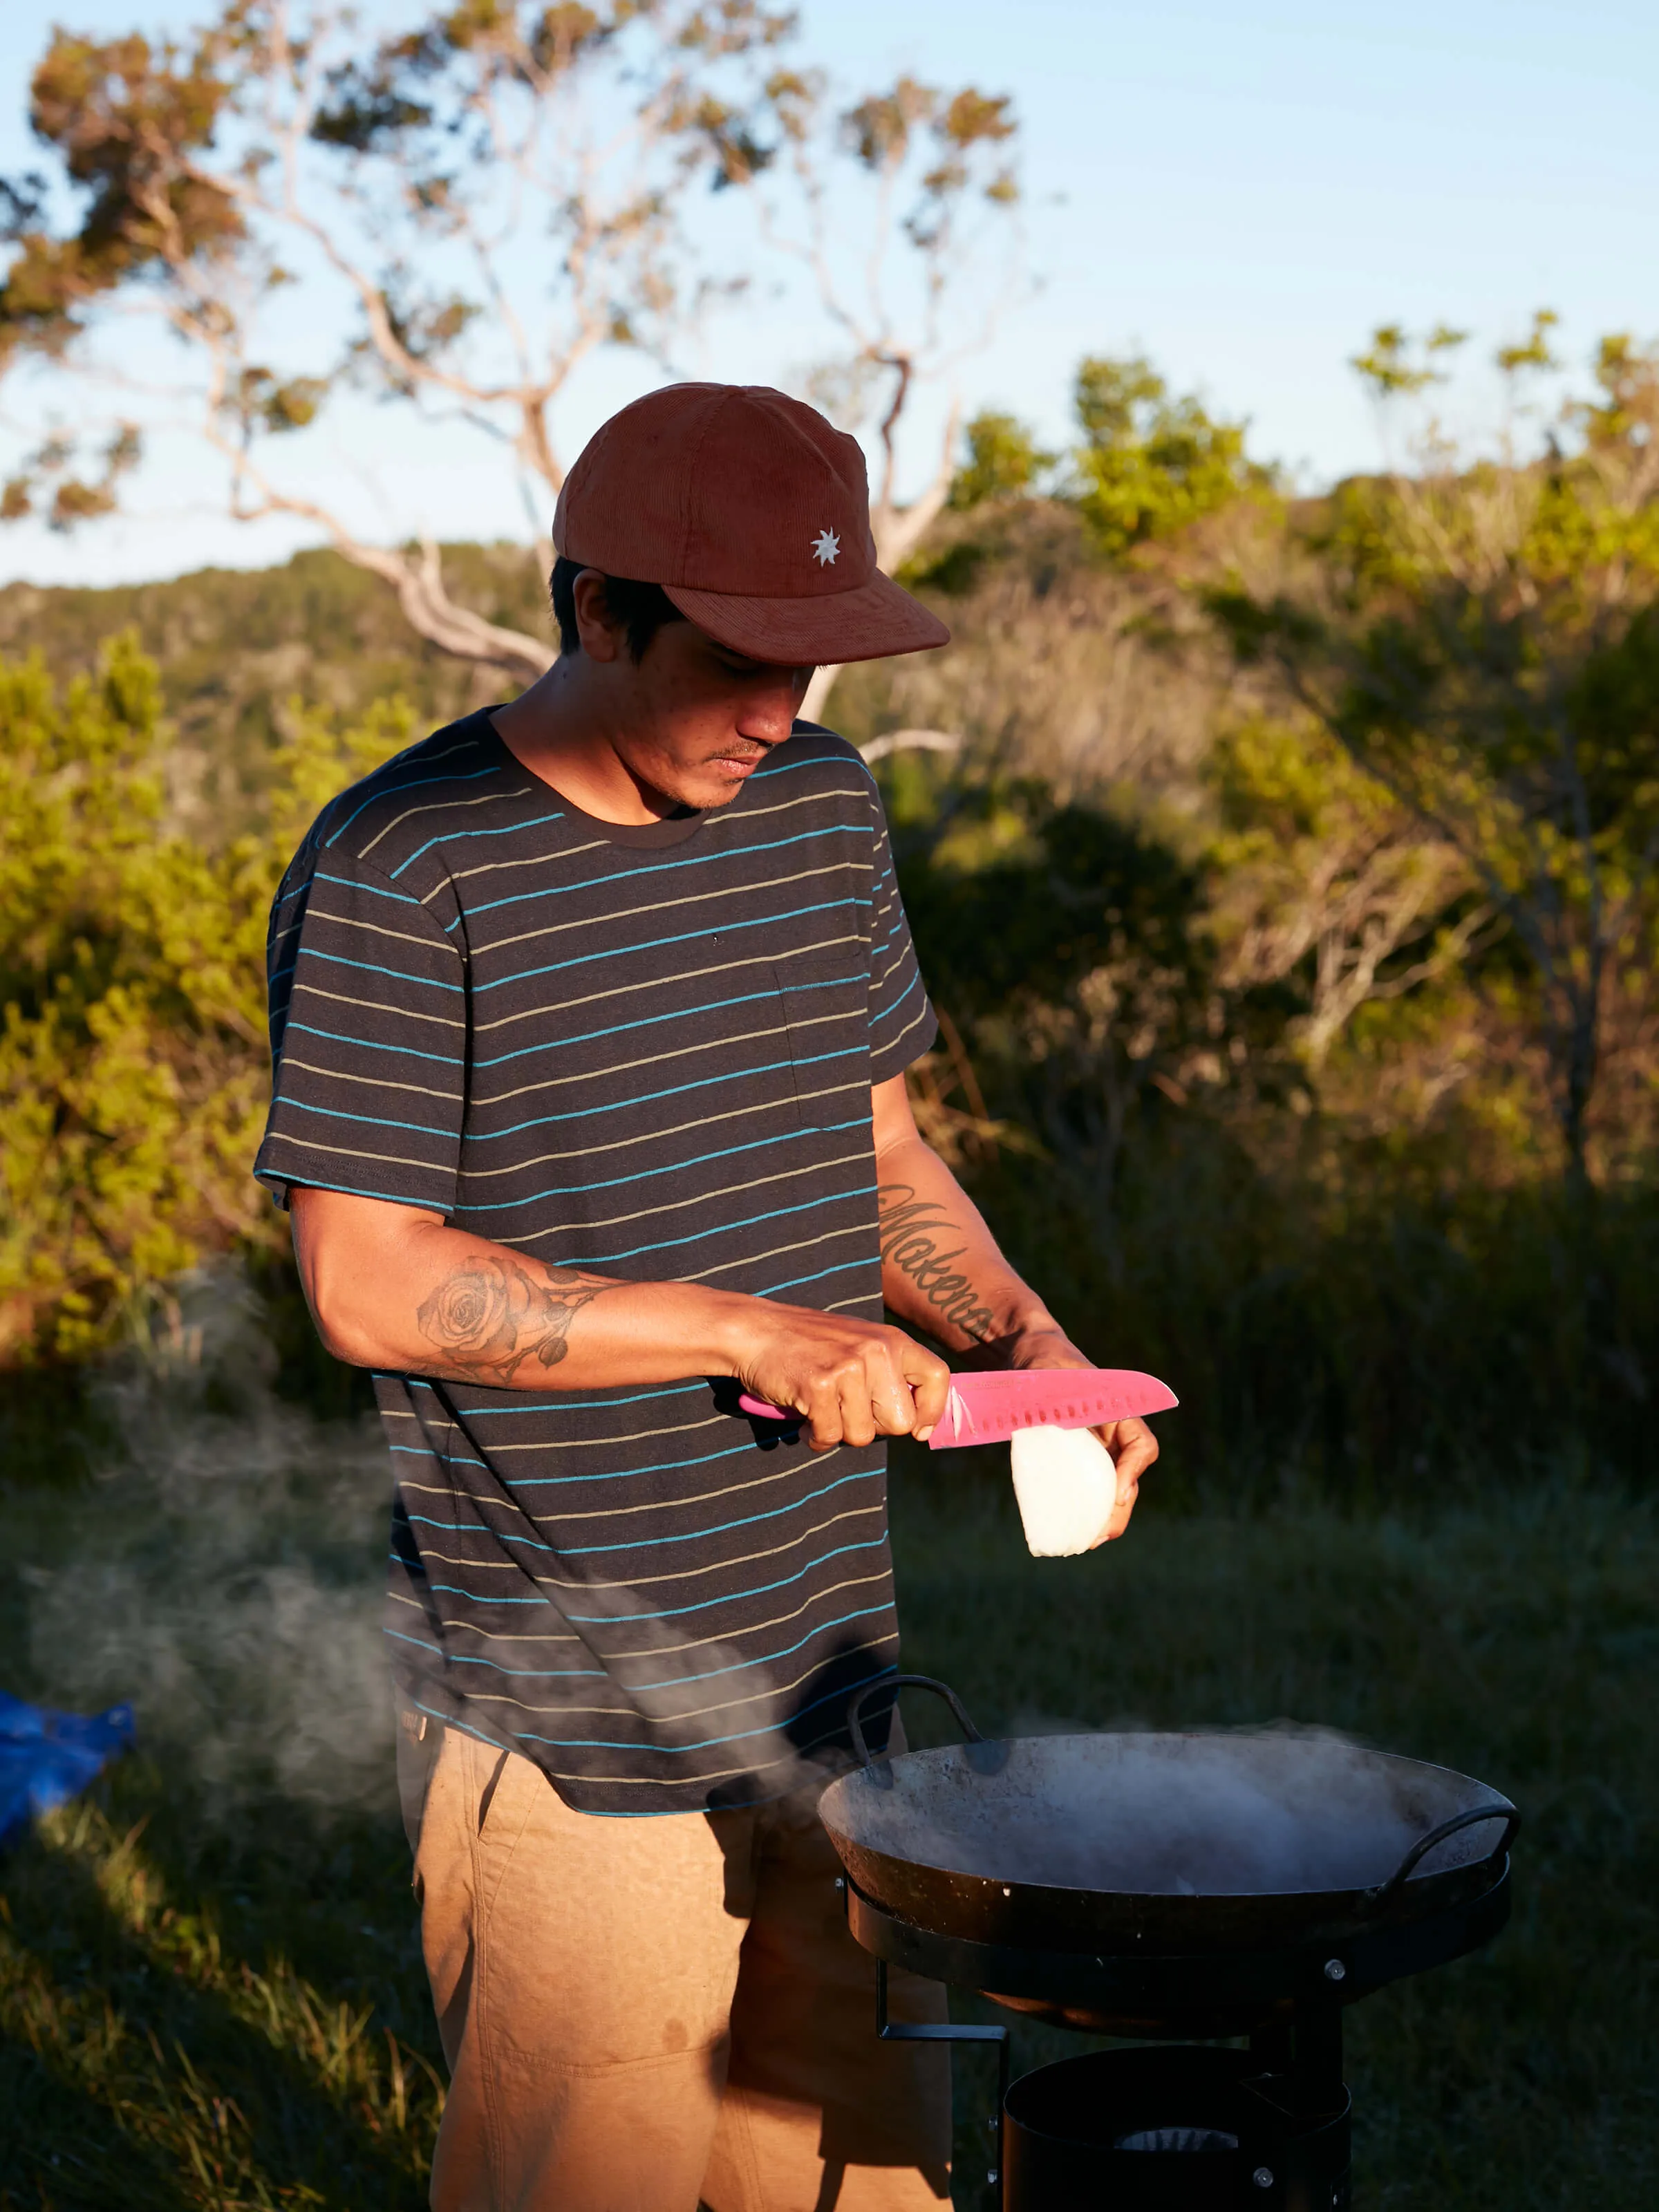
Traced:
<path fill-rule="evenodd" d="M 914 1336 L 805 1305 L 743 1303 L 737 1378 L 754 1398 L 801 1413 L 814 1451 L 933 1431 L 951 1369 Z"/>

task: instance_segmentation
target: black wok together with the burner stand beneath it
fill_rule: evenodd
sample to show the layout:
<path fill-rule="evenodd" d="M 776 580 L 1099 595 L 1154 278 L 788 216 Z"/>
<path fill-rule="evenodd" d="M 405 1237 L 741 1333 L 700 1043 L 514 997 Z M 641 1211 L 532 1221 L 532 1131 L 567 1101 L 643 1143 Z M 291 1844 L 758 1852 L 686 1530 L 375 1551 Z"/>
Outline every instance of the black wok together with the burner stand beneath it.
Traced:
<path fill-rule="evenodd" d="M 967 1743 L 872 1759 L 865 1705 L 900 1688 Z M 987 1741 L 925 1674 L 847 1721 L 863 1765 L 818 1809 L 876 2033 L 995 2048 L 1000 2212 L 1347 2212 L 1343 2008 L 1502 1929 L 1509 1798 L 1329 1736 Z M 1011 2081 L 1006 2028 L 891 2022 L 889 1966 L 1139 2042 Z"/>

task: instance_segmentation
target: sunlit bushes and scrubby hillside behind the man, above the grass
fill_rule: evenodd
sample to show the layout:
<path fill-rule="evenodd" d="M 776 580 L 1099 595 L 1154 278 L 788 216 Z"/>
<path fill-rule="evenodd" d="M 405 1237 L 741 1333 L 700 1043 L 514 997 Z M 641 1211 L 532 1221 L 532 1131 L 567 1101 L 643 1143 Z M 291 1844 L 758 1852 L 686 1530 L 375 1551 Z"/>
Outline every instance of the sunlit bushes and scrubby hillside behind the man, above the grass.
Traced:
<path fill-rule="evenodd" d="M 1608 341 L 1540 462 L 1427 449 L 1316 502 L 1146 363 L 1084 363 L 1077 422 L 1060 462 L 973 425 L 905 571 L 953 646 L 832 701 L 860 743 L 962 739 L 880 763 L 929 1135 L 1079 1340 L 1181 1391 L 1172 1495 L 1646 1475 L 1655 363 Z M 522 553 L 447 560 L 546 622 Z M 7 639 L 13 1436 L 226 1263 L 338 1402 L 246 1172 L 263 911 L 330 790 L 491 686 L 330 555 L 13 586 Z"/>

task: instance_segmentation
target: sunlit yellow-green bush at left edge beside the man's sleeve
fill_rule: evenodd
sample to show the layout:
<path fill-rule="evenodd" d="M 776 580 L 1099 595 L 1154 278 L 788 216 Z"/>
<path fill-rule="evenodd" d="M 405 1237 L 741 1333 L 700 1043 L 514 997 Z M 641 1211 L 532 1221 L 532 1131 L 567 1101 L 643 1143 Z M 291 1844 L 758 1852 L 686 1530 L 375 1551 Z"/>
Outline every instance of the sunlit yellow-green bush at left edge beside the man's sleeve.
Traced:
<path fill-rule="evenodd" d="M 75 1358 L 208 1256 L 272 1248 L 265 909 L 303 823 L 398 717 L 283 748 L 257 836 L 173 823 L 155 668 L 0 664 L 0 1365 Z"/>

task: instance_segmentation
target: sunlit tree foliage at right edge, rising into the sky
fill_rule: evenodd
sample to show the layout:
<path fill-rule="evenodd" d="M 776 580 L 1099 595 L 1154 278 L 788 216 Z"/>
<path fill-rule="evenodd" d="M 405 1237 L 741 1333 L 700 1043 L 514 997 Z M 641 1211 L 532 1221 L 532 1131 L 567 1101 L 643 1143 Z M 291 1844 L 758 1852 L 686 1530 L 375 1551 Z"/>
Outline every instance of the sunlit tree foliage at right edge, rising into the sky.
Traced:
<path fill-rule="evenodd" d="M 1548 363 L 1546 330 L 1504 374 Z M 1385 400 L 1438 374 L 1396 330 L 1360 367 Z M 1338 487 L 1305 584 L 1212 604 L 1506 922 L 1582 1175 L 1606 1024 L 1659 927 L 1659 354 L 1606 338 L 1537 460 L 1462 456 L 1433 420 L 1416 453 Z"/>

